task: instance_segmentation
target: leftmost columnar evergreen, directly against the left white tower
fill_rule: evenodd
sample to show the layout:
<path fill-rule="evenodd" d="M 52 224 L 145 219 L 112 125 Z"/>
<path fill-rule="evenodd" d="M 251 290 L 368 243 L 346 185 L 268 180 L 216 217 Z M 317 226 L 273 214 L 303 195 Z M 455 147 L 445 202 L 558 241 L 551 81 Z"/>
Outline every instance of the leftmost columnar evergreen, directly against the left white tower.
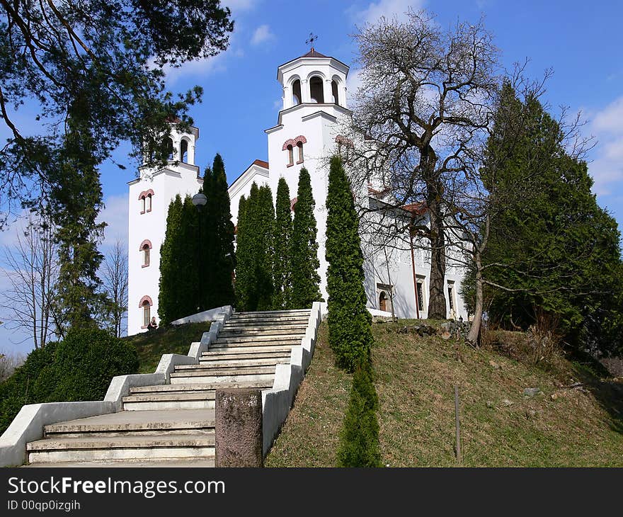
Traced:
<path fill-rule="evenodd" d="M 160 289 L 158 295 L 158 315 L 161 325 L 171 323 L 176 319 L 176 307 L 180 292 L 178 291 L 178 280 L 180 271 L 176 267 L 176 248 L 179 235 L 182 199 L 176 195 L 175 199 L 168 205 L 166 216 L 166 233 L 164 242 L 160 247 Z"/>

